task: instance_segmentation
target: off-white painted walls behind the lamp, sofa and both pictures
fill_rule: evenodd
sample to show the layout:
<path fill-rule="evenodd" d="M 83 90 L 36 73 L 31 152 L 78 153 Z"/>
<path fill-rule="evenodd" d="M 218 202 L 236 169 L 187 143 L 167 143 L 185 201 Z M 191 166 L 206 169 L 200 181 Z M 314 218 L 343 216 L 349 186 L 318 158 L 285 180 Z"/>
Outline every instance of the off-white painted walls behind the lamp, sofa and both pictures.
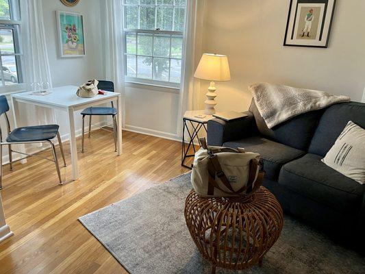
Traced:
<path fill-rule="evenodd" d="M 337 1 L 329 48 L 284 47 L 288 0 L 209 0 L 205 4 L 203 51 L 229 56 L 230 82 L 218 82 L 217 110 L 247 110 L 251 95 L 247 86 L 273 82 L 325 90 L 362 99 L 365 86 L 365 1 Z M 60 1 L 43 0 L 53 86 L 79 85 L 91 78 L 103 78 L 101 46 L 102 0 L 84 0 L 73 8 Z M 55 10 L 84 14 L 86 56 L 60 58 Z M 203 81 L 198 108 L 204 108 L 208 82 Z M 176 90 L 127 84 L 126 129 L 177 138 Z M 75 114 L 77 128 L 81 116 Z M 95 121 L 98 122 L 98 121 Z M 67 123 L 56 113 L 61 134 Z"/>

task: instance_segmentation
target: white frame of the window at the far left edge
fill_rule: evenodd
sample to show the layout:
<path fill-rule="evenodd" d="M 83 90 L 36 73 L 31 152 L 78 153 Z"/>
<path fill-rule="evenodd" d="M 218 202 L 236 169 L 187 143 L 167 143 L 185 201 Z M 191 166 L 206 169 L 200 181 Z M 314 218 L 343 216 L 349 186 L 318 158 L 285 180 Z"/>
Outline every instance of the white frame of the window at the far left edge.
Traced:
<path fill-rule="evenodd" d="M 25 74 L 24 74 L 24 57 L 23 47 L 21 43 L 21 14 L 19 0 L 9 0 L 10 6 L 10 20 L 0 19 L 0 29 L 12 29 L 13 31 L 13 43 L 14 54 L 3 54 L 0 50 L 0 93 L 17 92 L 25 90 Z M 3 77 L 3 56 L 14 56 L 16 61 L 16 73 L 18 76 L 18 83 L 5 85 L 5 79 Z"/>

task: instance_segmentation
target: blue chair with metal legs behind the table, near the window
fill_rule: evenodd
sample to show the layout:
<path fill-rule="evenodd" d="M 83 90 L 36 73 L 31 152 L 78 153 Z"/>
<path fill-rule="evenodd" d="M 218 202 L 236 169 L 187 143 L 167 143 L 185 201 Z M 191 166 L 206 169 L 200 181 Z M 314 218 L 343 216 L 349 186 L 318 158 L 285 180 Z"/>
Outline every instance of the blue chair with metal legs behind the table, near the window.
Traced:
<path fill-rule="evenodd" d="M 110 92 L 114 92 L 114 83 L 110 81 L 99 81 L 98 84 L 99 90 L 106 90 Z M 112 108 L 110 107 L 91 107 L 86 108 L 81 112 L 82 115 L 82 142 L 81 142 L 81 152 L 84 153 L 84 135 L 85 135 L 85 116 L 89 116 L 89 132 L 88 138 L 90 138 L 91 133 L 91 117 L 95 115 L 101 116 L 112 116 L 113 117 L 113 133 L 114 133 L 114 147 L 116 151 L 116 108 L 114 108 L 114 104 L 112 103 Z"/>

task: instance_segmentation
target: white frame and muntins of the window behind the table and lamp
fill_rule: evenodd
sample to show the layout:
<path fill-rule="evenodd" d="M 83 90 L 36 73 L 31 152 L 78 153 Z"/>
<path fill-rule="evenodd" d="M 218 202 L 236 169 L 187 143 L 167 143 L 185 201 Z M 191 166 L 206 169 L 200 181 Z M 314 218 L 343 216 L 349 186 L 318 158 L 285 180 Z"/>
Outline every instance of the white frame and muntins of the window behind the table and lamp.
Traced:
<path fill-rule="evenodd" d="M 155 0 L 155 4 L 154 5 L 147 5 L 147 4 L 140 4 L 140 0 L 138 0 L 138 4 L 125 4 L 125 0 L 123 1 L 123 47 L 124 47 L 124 60 L 123 60 L 123 66 L 124 66 L 124 73 L 125 73 L 125 82 L 127 83 L 134 83 L 134 84 L 142 84 L 142 85 L 149 85 L 149 86 L 161 86 L 161 87 L 165 87 L 165 88 L 175 88 L 175 89 L 179 89 L 180 85 L 181 85 L 181 76 L 180 76 L 180 83 L 176 83 L 176 82 L 169 82 L 171 79 L 171 60 L 180 60 L 181 61 L 181 66 L 182 66 L 182 62 L 183 62 L 183 52 L 184 52 L 184 32 L 177 32 L 177 31 L 164 31 L 164 30 L 160 30 L 157 28 L 157 8 L 158 7 L 177 7 L 177 8 L 184 8 L 185 10 L 185 18 L 186 18 L 186 5 L 175 5 L 175 1 L 173 1 L 173 5 L 164 5 L 164 4 L 158 4 L 158 0 Z M 155 7 L 155 29 L 127 29 L 126 25 L 127 25 L 127 18 L 125 16 L 125 7 L 126 6 L 136 6 L 138 7 L 138 27 L 140 27 L 140 7 Z M 175 23 L 175 8 L 173 9 L 173 24 Z M 186 22 L 184 20 L 184 28 L 186 27 Z M 127 53 L 127 36 L 126 34 L 128 33 L 132 33 L 136 35 L 136 53 L 135 54 L 131 54 L 131 53 Z M 140 55 L 138 54 L 138 34 L 151 34 L 152 35 L 152 54 L 151 55 Z M 169 47 L 169 55 L 168 57 L 161 57 L 161 56 L 154 56 L 154 48 L 153 48 L 153 43 L 154 43 L 154 38 L 155 35 L 168 35 L 170 36 L 170 47 Z M 171 40 L 173 38 L 173 36 L 177 37 L 181 37 L 182 39 L 182 45 L 181 45 L 181 59 L 180 58 L 171 58 Z M 136 75 L 137 77 L 129 77 L 127 76 L 127 55 L 132 55 L 132 56 L 136 56 Z M 138 77 L 138 56 L 144 56 L 144 57 L 150 57 L 152 58 L 162 58 L 162 59 L 167 59 L 168 60 L 168 81 L 160 81 L 160 80 L 155 80 L 155 79 L 145 79 L 145 78 L 140 78 Z M 152 61 L 152 65 L 151 65 L 151 69 L 152 69 L 152 78 L 153 78 L 153 61 Z M 182 68 L 181 68 L 182 69 Z"/>

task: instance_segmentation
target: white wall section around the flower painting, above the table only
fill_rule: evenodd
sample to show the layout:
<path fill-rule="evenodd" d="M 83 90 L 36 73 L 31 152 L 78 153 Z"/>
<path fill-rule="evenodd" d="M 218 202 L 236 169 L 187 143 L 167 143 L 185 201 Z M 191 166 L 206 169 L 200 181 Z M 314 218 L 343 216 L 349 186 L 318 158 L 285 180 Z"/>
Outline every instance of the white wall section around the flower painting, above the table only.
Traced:
<path fill-rule="evenodd" d="M 79 1 L 72 8 L 68 8 L 61 1 L 42 1 L 53 86 L 64 86 L 65 84 L 79 86 L 92 77 L 102 77 L 101 18 L 99 7 L 99 0 Z M 58 33 L 55 19 L 56 10 L 78 12 L 84 15 L 85 57 L 59 57 Z"/>

